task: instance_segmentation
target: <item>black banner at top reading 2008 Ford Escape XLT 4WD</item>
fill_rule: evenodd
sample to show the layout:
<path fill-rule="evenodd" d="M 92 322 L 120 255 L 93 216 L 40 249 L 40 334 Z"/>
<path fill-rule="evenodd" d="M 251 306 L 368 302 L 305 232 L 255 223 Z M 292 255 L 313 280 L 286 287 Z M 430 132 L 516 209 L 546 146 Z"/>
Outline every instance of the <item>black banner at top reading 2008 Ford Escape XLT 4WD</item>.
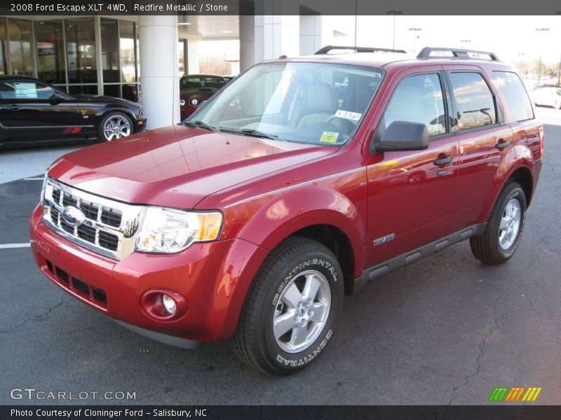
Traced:
<path fill-rule="evenodd" d="M 561 3 L 551 0 L 2 0 L 0 15 L 561 16 Z"/>

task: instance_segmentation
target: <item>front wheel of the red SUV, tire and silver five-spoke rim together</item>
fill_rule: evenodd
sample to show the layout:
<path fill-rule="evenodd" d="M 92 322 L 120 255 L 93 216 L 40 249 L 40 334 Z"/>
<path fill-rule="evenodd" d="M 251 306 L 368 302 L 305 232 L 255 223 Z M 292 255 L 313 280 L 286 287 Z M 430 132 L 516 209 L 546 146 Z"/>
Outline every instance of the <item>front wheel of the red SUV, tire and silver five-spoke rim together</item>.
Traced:
<path fill-rule="evenodd" d="M 245 299 L 234 350 L 248 365 L 285 375 L 308 366 L 332 338 L 344 284 L 323 244 L 292 237 L 265 260 Z"/>

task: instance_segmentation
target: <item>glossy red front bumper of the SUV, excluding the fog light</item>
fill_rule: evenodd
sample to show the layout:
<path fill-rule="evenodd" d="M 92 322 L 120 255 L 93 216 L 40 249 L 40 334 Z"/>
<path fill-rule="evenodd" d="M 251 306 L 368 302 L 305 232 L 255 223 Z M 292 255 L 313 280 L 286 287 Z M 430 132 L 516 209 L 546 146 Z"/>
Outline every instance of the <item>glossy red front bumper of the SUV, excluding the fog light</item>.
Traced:
<path fill-rule="evenodd" d="M 194 244 L 177 254 L 134 252 L 112 260 L 50 230 L 40 206 L 32 215 L 30 236 L 41 272 L 76 299 L 122 323 L 197 342 L 233 334 L 250 282 L 267 254 L 243 239 L 228 239 Z M 152 288 L 180 293 L 187 311 L 170 321 L 151 318 L 140 298 Z"/>

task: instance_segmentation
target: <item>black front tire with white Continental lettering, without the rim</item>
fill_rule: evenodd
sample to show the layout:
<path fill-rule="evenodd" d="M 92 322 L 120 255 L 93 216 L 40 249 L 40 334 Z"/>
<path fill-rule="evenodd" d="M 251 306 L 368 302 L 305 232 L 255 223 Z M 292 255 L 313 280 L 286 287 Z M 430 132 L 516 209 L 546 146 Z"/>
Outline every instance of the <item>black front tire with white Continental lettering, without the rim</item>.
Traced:
<path fill-rule="evenodd" d="M 322 274 L 323 284 L 325 280 L 329 284 L 329 310 L 323 328 L 317 328 L 317 338 L 311 341 L 314 335 L 310 335 L 310 344 L 305 349 L 290 353 L 281 348 L 273 334 L 273 317 L 285 305 L 280 299 L 283 290 L 299 285 L 297 282 L 304 279 L 300 274 L 310 270 Z M 234 351 L 243 362 L 268 374 L 286 375 L 302 370 L 323 353 L 332 338 L 344 300 L 343 283 L 337 258 L 323 244 L 301 237 L 283 241 L 265 260 L 250 286 L 234 334 Z M 323 287 L 325 290 L 326 286 Z M 293 333 L 294 330 L 288 330 L 286 337 Z"/>

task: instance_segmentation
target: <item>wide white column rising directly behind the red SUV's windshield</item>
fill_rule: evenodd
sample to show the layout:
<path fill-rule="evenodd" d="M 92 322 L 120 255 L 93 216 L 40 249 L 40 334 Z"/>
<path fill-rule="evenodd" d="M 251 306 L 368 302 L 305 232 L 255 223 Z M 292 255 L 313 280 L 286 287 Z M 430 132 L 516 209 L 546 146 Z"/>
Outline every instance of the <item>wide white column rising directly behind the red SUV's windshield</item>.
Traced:
<path fill-rule="evenodd" d="M 264 59 L 300 54 L 298 15 L 240 16 L 240 69 Z"/>

